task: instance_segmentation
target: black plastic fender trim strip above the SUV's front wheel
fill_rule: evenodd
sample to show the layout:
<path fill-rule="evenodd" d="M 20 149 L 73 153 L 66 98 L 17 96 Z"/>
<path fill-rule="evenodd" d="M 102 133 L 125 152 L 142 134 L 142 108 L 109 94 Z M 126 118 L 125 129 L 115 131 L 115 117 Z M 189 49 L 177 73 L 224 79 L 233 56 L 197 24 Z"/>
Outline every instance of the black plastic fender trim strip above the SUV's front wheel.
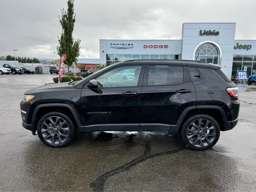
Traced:
<path fill-rule="evenodd" d="M 72 115 L 74 116 L 74 119 L 76 121 L 76 124 L 77 124 L 78 128 L 82 127 L 81 120 L 80 120 L 79 116 L 77 115 L 76 111 L 74 110 L 74 108 L 71 105 L 64 104 L 64 103 L 49 103 L 49 104 L 40 104 L 40 105 L 36 106 L 36 108 L 34 110 L 34 113 L 33 113 L 33 116 L 32 116 L 32 121 L 31 121 L 31 124 L 33 126 L 35 124 L 36 114 L 38 113 L 38 110 L 40 108 L 44 108 L 44 107 L 65 107 L 65 108 L 68 108 L 71 111 Z"/>

